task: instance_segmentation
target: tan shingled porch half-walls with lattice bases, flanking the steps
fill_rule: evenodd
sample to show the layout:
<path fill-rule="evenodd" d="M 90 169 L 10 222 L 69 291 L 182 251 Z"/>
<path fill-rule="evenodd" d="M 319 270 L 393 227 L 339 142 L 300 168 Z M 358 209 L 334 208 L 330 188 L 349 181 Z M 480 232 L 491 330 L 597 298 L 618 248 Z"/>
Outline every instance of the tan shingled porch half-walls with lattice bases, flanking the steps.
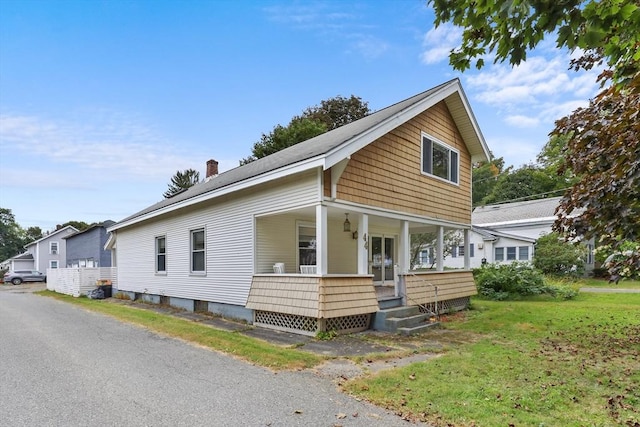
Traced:
<path fill-rule="evenodd" d="M 376 286 L 373 279 L 373 275 L 257 274 L 246 307 L 254 311 L 256 325 L 313 336 L 370 329 L 376 313 L 385 308 L 462 309 L 476 293 L 470 271 L 401 275 L 399 286 Z M 392 305 L 385 305 L 389 302 Z"/>

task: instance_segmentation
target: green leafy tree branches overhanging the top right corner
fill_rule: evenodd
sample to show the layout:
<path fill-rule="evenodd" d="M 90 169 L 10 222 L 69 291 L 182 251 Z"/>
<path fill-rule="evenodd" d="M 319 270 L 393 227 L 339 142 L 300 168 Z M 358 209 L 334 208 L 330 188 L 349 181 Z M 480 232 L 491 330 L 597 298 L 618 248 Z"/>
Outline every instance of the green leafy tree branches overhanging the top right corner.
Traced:
<path fill-rule="evenodd" d="M 640 71 L 640 7 L 629 0 L 427 0 L 435 10 L 436 27 L 445 22 L 463 27 L 462 44 L 449 63 L 464 71 L 494 63 L 518 65 L 546 37 L 558 48 L 582 49 L 594 63 L 606 60 L 616 82 L 626 84 Z M 585 62 L 583 65 L 589 66 Z"/>

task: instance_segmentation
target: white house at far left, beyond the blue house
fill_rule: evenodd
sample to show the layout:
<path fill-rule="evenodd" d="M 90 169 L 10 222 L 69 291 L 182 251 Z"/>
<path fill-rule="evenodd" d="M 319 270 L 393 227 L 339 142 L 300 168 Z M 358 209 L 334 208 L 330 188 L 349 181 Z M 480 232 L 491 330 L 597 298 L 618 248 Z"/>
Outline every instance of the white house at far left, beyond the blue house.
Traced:
<path fill-rule="evenodd" d="M 47 268 L 60 268 L 66 261 L 65 237 L 77 233 L 78 230 L 67 225 L 25 246 L 26 252 L 3 262 L 9 270 L 38 270 L 42 273 Z"/>

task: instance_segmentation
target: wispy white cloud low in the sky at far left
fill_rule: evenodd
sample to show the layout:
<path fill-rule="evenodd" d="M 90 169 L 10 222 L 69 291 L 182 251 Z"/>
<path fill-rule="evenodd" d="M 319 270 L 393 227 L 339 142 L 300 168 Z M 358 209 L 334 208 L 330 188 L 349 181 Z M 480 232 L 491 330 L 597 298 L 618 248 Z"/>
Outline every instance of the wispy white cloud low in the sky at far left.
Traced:
<path fill-rule="evenodd" d="M 197 153 L 185 156 L 185 150 L 167 144 L 145 124 L 106 111 L 55 121 L 5 114 L 0 116 L 0 146 L 3 153 L 28 153 L 104 174 L 150 180 L 200 166 L 203 158 Z"/>

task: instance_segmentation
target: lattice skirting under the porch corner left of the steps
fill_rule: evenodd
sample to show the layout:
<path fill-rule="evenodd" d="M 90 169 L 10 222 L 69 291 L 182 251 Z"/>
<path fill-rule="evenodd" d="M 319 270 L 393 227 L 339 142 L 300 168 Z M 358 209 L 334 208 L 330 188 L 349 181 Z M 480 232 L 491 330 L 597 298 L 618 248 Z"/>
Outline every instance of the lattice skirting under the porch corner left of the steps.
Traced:
<path fill-rule="evenodd" d="M 317 332 L 326 331 L 336 331 L 338 333 L 364 331 L 369 329 L 370 322 L 370 314 L 335 317 L 320 321 L 313 317 L 256 310 L 253 323 L 265 328 L 314 336 Z"/>

